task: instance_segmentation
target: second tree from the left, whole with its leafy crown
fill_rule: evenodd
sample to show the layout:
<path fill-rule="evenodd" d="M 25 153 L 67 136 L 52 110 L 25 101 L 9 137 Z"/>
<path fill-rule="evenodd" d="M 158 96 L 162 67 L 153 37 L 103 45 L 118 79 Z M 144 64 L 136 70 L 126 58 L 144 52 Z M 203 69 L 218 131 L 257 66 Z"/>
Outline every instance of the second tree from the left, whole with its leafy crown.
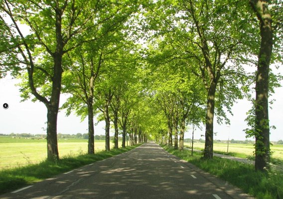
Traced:
<path fill-rule="evenodd" d="M 82 109 L 87 108 L 87 113 L 81 114 L 81 117 L 88 116 L 88 154 L 94 154 L 94 85 L 100 74 L 103 54 L 103 50 L 99 52 L 98 49 L 95 49 L 94 44 L 85 44 L 74 51 L 73 60 L 70 60 L 70 65 L 74 70 L 66 72 L 63 76 L 63 92 L 72 95 L 62 106 L 62 108 L 67 108 L 67 115 L 72 109 L 76 109 L 80 114 Z M 76 83 L 74 79 L 77 80 Z M 81 106 L 81 102 L 84 102 L 87 107 Z"/>

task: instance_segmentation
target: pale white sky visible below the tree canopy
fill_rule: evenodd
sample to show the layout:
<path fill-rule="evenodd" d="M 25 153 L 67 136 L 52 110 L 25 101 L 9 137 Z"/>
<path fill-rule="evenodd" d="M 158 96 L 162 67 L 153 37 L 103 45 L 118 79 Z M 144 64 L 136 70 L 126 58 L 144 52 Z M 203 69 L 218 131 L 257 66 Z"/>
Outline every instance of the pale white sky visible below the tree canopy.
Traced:
<path fill-rule="evenodd" d="M 278 70 L 283 74 L 283 67 Z M 16 87 L 19 80 L 12 79 L 7 76 L 0 79 L 0 133 L 31 133 L 31 134 L 45 134 L 46 128 L 46 114 L 47 109 L 42 102 L 32 102 L 30 100 L 20 102 L 19 87 Z M 283 84 L 283 82 L 281 82 Z M 281 85 L 282 85 L 281 84 Z M 276 99 L 272 104 L 272 109 L 269 110 L 270 125 L 275 125 L 275 130 L 271 129 L 270 140 L 278 141 L 283 140 L 283 87 L 277 88 L 276 93 L 272 99 Z M 60 104 L 66 100 L 66 96 L 61 95 Z M 2 104 L 8 103 L 9 107 L 4 109 Z M 246 112 L 251 108 L 251 103 L 247 100 L 239 100 L 236 103 L 232 111 L 233 116 L 229 115 L 231 125 L 226 124 L 218 125 L 215 119 L 214 132 L 217 132 L 214 139 L 227 140 L 245 140 L 246 134 L 243 129 L 248 126 L 245 122 Z M 105 123 L 99 122 L 95 126 L 95 135 L 105 134 Z M 114 130 L 111 130 L 112 134 Z M 61 110 L 58 113 L 57 132 L 63 134 L 76 134 L 76 133 L 87 133 L 88 123 L 87 119 L 81 122 L 81 118 L 71 114 L 66 116 L 65 111 Z M 194 139 L 205 139 L 205 127 L 202 130 L 197 129 L 194 133 Z M 185 138 L 191 138 L 192 129 L 188 128 L 185 133 Z M 253 139 L 253 138 L 250 138 Z"/>

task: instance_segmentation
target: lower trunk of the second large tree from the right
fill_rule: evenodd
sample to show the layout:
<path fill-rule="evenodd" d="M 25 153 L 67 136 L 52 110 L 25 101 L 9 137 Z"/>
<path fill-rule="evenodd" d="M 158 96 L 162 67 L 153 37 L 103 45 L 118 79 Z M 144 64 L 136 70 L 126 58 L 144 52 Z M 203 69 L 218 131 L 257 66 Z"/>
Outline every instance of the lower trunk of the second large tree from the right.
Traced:
<path fill-rule="evenodd" d="M 205 159 L 213 158 L 213 119 L 215 107 L 216 83 L 211 82 L 207 97 L 207 110 L 205 119 L 205 147 L 203 157 Z"/>

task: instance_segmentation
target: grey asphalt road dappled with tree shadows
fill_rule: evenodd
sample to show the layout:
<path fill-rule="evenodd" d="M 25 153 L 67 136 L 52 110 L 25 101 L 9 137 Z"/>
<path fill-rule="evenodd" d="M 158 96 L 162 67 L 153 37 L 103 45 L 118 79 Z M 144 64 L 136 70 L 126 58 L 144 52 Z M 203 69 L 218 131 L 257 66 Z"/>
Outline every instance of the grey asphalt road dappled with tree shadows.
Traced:
<path fill-rule="evenodd" d="M 157 144 L 1 195 L 0 199 L 252 199 Z"/>

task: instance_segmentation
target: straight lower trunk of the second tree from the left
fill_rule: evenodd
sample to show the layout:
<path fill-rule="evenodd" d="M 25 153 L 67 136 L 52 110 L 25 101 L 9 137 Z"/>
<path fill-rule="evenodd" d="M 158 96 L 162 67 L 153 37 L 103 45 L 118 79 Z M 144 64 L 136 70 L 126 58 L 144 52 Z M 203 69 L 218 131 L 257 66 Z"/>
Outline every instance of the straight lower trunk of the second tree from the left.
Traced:
<path fill-rule="evenodd" d="M 88 99 L 88 154 L 94 154 L 93 99 Z"/>

